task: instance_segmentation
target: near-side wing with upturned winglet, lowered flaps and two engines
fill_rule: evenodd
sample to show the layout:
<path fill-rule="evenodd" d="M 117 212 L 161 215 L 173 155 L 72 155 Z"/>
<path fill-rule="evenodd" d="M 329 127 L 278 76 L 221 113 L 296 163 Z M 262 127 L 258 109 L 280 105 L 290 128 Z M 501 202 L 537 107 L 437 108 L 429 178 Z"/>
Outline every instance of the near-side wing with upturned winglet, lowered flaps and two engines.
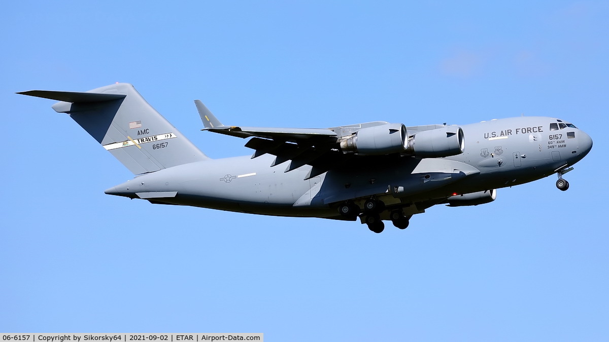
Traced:
<path fill-rule="evenodd" d="M 364 158 L 375 157 L 374 160 L 378 161 L 379 156 L 443 157 L 463 152 L 463 131 L 457 126 L 406 128 L 403 124 L 385 121 L 331 128 L 227 126 L 200 100 L 195 100 L 195 105 L 205 127 L 203 131 L 252 138 L 245 144 L 245 147 L 255 150 L 252 158 L 267 153 L 274 155 L 276 158 L 271 166 L 290 161 L 284 172 L 310 165 L 311 172 L 305 179 L 334 167 L 348 167 L 353 165 L 351 162 L 366 164 Z"/>

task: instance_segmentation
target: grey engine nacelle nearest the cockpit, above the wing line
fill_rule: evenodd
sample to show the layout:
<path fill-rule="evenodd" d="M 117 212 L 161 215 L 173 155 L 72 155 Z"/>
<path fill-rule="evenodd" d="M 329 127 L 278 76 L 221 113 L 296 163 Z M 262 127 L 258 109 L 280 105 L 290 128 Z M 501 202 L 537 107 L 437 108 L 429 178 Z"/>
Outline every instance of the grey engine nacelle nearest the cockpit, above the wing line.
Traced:
<path fill-rule="evenodd" d="M 420 131 L 408 142 L 407 153 L 422 158 L 460 155 L 465 149 L 465 137 L 459 126 L 445 126 Z"/>

